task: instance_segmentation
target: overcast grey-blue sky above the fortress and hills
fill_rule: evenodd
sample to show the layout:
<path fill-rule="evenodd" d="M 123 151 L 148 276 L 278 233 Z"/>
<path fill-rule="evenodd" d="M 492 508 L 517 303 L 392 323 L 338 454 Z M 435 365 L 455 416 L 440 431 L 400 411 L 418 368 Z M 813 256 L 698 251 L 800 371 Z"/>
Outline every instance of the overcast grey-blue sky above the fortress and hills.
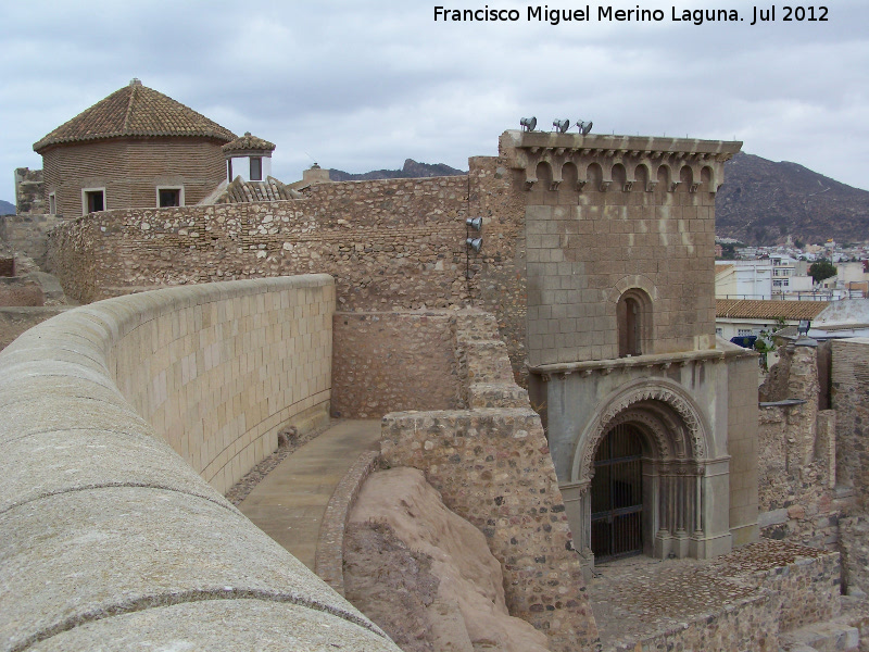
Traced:
<path fill-rule="evenodd" d="M 288 183 L 314 161 L 467 170 L 536 115 L 544 129 L 559 117 L 596 133 L 735 138 L 869 189 L 869 2 L 826 1 L 826 22 L 784 22 L 779 4 L 774 23 L 752 26 L 742 0 L 639 4 L 660 9 L 659 22 L 601 21 L 590 3 L 590 20 L 558 25 L 529 21 L 537 4 L 498 0 L 2 0 L 0 199 L 14 203 L 15 167 L 41 167 L 34 142 L 133 77 L 275 142 L 273 174 Z M 520 20 L 436 23 L 436 5 Z M 672 20 L 702 8 L 743 21 Z"/>

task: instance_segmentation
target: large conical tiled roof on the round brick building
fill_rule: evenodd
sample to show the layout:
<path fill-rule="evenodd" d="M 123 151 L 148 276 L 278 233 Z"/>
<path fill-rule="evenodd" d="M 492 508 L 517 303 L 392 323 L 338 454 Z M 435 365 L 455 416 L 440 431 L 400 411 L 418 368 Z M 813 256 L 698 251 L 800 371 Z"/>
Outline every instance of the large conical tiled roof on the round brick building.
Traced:
<path fill-rule="evenodd" d="M 41 153 L 51 145 L 124 136 L 236 139 L 229 129 L 134 79 L 34 143 L 34 150 Z"/>

